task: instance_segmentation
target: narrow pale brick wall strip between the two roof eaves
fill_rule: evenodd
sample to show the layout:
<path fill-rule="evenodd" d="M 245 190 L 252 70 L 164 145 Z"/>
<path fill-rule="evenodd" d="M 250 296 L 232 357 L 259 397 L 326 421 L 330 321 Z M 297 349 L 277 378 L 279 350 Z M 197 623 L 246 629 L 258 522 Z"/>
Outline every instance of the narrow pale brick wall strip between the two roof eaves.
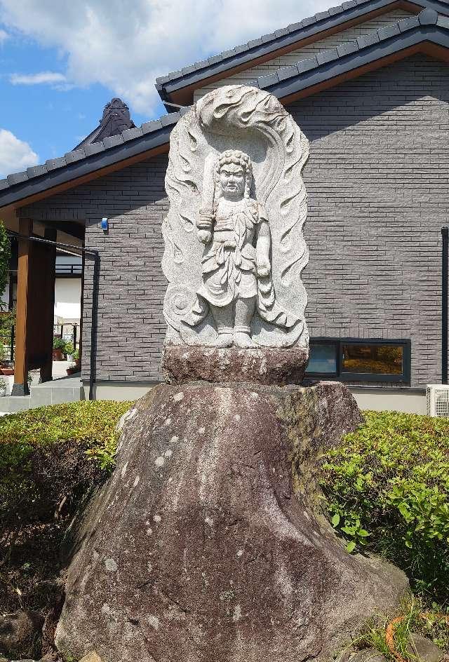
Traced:
<path fill-rule="evenodd" d="M 366 21 L 360 25 L 355 25 L 354 27 L 349 27 L 342 30 L 342 32 L 337 32 L 332 36 L 328 36 L 326 39 L 321 39 L 315 43 L 309 43 L 308 46 L 304 46 L 304 48 L 300 48 L 299 50 L 294 50 L 292 53 L 286 53 L 286 55 L 281 55 L 279 58 L 264 62 L 262 65 L 251 67 L 250 69 L 246 69 L 246 71 L 239 72 L 239 74 L 234 74 L 234 76 L 229 76 L 229 78 L 224 78 L 221 81 L 215 81 L 215 83 L 212 83 L 211 85 L 199 88 L 198 90 L 195 90 L 194 101 L 201 99 L 203 95 L 211 90 L 215 90 L 217 87 L 248 83 L 248 81 L 253 81 L 258 76 L 272 74 L 277 72 L 278 69 L 281 69 L 281 67 L 288 67 L 289 65 L 294 65 L 295 62 L 299 62 L 300 60 L 306 60 L 311 55 L 320 53 L 321 50 L 336 48 L 340 43 L 356 41 L 359 36 L 372 34 L 381 27 L 392 25 L 398 20 L 408 18 L 411 15 L 410 12 L 403 11 L 402 9 L 396 9 L 395 11 L 384 13 L 373 20 Z"/>

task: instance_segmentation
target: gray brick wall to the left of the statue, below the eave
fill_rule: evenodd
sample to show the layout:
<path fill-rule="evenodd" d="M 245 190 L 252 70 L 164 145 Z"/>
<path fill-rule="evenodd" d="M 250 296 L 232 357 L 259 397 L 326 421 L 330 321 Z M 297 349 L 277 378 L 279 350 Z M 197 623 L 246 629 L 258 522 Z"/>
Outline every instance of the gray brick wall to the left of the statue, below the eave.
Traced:
<path fill-rule="evenodd" d="M 96 379 L 161 379 L 165 335 L 161 222 L 168 211 L 163 186 L 168 158 L 158 156 L 94 180 L 21 212 L 39 220 L 86 219 L 86 248 L 100 251 Z M 109 218 L 109 231 L 100 227 Z M 82 377 L 91 350 L 93 259 L 86 256 Z"/>

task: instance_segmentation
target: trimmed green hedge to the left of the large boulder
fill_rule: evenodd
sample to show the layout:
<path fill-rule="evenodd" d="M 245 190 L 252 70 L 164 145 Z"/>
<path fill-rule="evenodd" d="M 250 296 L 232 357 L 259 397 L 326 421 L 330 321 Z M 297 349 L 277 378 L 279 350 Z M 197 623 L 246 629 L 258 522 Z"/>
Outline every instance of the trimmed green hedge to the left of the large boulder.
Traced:
<path fill-rule="evenodd" d="M 82 401 L 0 417 L 0 539 L 18 517 L 44 516 L 71 487 L 113 466 L 115 427 L 131 404 Z"/>

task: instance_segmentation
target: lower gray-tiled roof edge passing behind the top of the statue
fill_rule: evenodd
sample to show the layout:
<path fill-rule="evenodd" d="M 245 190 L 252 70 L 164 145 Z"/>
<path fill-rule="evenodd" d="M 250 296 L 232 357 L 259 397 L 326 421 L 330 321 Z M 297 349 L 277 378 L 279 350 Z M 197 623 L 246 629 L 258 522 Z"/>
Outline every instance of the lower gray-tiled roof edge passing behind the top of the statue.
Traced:
<path fill-rule="evenodd" d="M 335 86 L 342 76 L 354 77 L 363 73 L 366 67 L 382 67 L 389 57 L 399 60 L 407 57 L 412 49 L 427 52 L 427 44 L 440 49 L 436 55 L 443 54 L 443 59 L 449 61 L 449 18 L 431 9 L 360 37 L 356 43 L 343 43 L 337 48 L 324 50 L 314 58 L 300 60 L 296 65 L 283 67 L 269 76 L 260 76 L 248 84 L 288 103 L 314 93 L 323 84 Z M 159 120 L 51 159 L 45 165 L 8 175 L 6 180 L 0 180 L 0 208 L 22 206 L 37 196 L 57 194 L 63 185 L 75 187 L 83 180 L 100 177 L 108 168 L 119 170 L 152 154 L 168 151 L 171 130 L 188 110 L 164 115 Z"/>

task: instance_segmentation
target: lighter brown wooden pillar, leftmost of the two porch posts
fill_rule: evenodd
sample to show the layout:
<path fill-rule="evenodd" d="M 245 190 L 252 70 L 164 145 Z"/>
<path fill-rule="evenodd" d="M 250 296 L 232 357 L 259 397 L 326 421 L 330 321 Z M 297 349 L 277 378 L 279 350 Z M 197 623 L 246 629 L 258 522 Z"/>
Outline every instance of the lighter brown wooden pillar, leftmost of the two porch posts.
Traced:
<path fill-rule="evenodd" d="M 14 384 L 11 396 L 27 396 L 29 348 L 27 343 L 27 321 L 29 306 L 30 252 L 32 242 L 27 239 L 33 231 L 29 218 L 19 219 L 18 271 L 17 271 L 17 317 L 15 320 Z"/>

